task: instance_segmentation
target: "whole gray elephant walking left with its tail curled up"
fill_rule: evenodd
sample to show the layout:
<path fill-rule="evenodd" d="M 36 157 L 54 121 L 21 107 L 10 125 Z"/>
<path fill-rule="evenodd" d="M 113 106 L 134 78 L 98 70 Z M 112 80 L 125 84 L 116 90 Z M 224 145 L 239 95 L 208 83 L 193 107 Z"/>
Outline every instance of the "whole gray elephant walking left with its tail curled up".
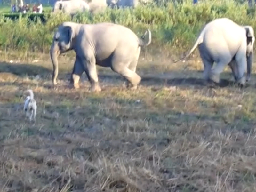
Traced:
<path fill-rule="evenodd" d="M 50 50 L 53 64 L 52 83 L 56 85 L 58 76 L 57 56 L 74 50 L 76 60 L 70 83 L 79 88 L 79 79 L 86 73 L 91 91 L 101 91 L 96 65 L 110 67 L 137 88 L 141 77 L 135 72 L 141 46 L 151 43 L 151 31 L 147 29 L 139 38 L 131 29 L 113 23 L 79 24 L 64 22 L 54 33 Z"/>

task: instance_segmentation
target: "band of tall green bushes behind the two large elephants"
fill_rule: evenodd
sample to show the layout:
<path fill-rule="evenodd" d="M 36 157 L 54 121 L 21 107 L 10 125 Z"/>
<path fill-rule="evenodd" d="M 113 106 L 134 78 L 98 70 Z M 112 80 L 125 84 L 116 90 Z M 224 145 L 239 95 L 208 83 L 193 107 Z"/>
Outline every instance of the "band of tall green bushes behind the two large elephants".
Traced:
<path fill-rule="evenodd" d="M 6 15 L 5 15 L 6 16 Z M 11 17 L 11 16 L 10 16 Z M 14 16 L 12 16 L 14 17 Z M 42 15 L 40 17 L 43 17 Z M 73 21 L 79 23 L 113 22 L 131 28 L 139 36 L 146 28 L 152 31 L 152 44 L 168 45 L 175 49 L 189 49 L 195 43 L 200 29 L 209 21 L 227 17 L 240 25 L 251 25 L 256 31 L 255 9 L 247 3 L 235 1 L 192 1 L 183 3 L 148 4 L 136 9 L 110 9 L 90 15 L 78 13 Z M 2 50 L 22 52 L 49 52 L 56 27 L 70 21 L 63 13 L 45 13 L 42 22 L 35 15 L 19 16 L 18 19 L 0 19 L 0 47 Z"/>

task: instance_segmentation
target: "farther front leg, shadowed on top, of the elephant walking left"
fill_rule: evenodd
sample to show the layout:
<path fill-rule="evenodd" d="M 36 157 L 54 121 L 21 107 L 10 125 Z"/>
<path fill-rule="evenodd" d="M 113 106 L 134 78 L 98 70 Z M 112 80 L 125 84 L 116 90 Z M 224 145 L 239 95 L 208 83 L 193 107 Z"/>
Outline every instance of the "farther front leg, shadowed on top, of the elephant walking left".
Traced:
<path fill-rule="evenodd" d="M 73 88 L 75 89 L 79 88 L 79 80 L 83 72 L 84 72 L 84 68 L 79 58 L 76 57 L 76 61 L 75 61 L 74 68 L 70 78 L 70 84 L 73 86 Z"/>

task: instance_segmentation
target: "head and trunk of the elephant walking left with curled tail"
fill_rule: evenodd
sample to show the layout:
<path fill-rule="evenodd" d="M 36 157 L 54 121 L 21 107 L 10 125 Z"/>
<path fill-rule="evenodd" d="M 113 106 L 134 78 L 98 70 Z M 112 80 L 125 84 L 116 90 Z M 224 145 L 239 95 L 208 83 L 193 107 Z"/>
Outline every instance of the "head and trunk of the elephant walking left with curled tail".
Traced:
<path fill-rule="evenodd" d="M 54 33 L 52 46 L 50 49 L 50 55 L 51 55 L 51 60 L 53 65 L 53 74 L 52 74 L 53 85 L 56 84 L 56 79 L 59 72 L 57 57 L 61 53 L 64 53 L 73 49 L 78 25 L 79 24 L 73 23 L 73 22 L 64 22 L 58 27 L 58 30 Z"/>

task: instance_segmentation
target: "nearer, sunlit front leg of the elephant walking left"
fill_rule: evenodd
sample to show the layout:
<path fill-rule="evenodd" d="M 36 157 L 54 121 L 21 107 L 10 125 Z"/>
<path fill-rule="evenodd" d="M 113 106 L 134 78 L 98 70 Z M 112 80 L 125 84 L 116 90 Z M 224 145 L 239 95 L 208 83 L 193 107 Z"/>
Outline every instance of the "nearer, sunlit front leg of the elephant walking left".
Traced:
<path fill-rule="evenodd" d="M 89 60 L 83 60 L 83 65 L 86 76 L 91 83 L 90 90 L 92 92 L 100 92 L 101 88 L 98 80 L 95 57 L 91 57 Z"/>

